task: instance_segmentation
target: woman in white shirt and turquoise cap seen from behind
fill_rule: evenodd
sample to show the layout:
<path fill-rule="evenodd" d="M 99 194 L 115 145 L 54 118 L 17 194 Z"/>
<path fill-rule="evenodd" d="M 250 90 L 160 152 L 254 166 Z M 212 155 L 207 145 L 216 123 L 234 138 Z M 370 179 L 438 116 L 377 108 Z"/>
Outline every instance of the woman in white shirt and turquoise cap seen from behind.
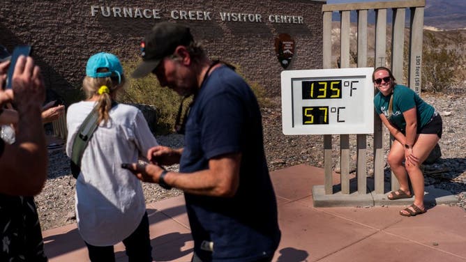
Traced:
<path fill-rule="evenodd" d="M 121 163 L 135 162 L 158 145 L 141 111 L 116 104 L 125 84 L 117 56 L 94 54 L 87 61 L 82 89 L 87 99 L 70 105 L 66 154 L 84 119 L 98 109 L 98 128 L 82 154 L 76 180 L 76 216 L 91 261 L 114 261 L 113 245 L 126 247 L 129 261 L 152 261 L 149 220 L 140 180 Z"/>

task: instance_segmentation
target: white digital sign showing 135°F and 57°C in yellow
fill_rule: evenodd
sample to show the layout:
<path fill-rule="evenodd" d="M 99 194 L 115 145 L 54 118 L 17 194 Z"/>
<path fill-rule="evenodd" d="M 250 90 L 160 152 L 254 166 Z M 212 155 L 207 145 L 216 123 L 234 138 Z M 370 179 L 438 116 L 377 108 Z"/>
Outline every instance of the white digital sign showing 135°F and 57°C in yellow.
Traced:
<path fill-rule="evenodd" d="M 282 72 L 284 134 L 371 134 L 373 68 Z"/>

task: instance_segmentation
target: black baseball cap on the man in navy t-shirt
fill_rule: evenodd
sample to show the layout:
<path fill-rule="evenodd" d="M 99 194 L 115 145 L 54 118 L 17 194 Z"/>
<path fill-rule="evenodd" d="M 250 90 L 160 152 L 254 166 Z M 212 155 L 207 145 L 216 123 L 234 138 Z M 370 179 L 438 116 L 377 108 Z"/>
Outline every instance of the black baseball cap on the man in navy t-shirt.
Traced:
<path fill-rule="evenodd" d="M 173 54 L 179 45 L 193 43 L 189 27 L 172 22 L 160 22 L 141 42 L 142 62 L 131 74 L 134 78 L 149 75 L 166 56 Z"/>

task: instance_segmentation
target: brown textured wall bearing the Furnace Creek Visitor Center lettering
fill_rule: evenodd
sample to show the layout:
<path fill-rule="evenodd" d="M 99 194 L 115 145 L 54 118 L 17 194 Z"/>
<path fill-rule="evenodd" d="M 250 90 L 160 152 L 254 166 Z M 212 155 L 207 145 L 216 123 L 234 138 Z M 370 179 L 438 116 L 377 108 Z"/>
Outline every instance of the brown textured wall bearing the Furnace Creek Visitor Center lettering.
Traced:
<path fill-rule="evenodd" d="M 280 72 L 284 69 L 276 57 L 274 38 L 279 33 L 288 33 L 294 38 L 295 54 L 287 70 L 322 68 L 323 3 L 310 0 L 3 0 L 0 43 L 10 52 L 15 45 L 33 45 L 33 57 L 43 69 L 47 88 L 69 97 L 70 92 L 80 87 L 89 56 L 104 51 L 118 54 L 122 61 L 135 59 L 140 54 L 140 41 L 151 26 L 160 21 L 173 21 L 190 26 L 195 40 L 206 47 L 209 56 L 239 65 L 250 82 L 261 84 L 271 95 L 280 95 Z M 91 6 L 97 6 L 94 15 Z M 105 17 L 100 6 L 131 8 L 133 16 L 137 8 L 141 12 L 149 11 L 140 17 Z M 181 11 L 202 12 L 191 13 L 192 20 L 188 15 L 188 20 L 175 20 L 172 11 L 178 17 Z M 261 22 L 223 21 L 220 13 L 253 14 L 254 20 L 259 15 Z M 296 23 L 297 19 L 288 23 L 270 22 L 269 15 L 302 17 L 303 23 Z"/>

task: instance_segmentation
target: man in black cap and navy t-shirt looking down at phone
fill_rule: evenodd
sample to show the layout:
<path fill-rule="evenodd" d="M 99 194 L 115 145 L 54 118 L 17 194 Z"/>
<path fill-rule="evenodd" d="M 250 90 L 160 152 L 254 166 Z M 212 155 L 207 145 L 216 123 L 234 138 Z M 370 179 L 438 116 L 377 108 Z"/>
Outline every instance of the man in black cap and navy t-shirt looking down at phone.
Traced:
<path fill-rule="evenodd" d="M 193 95 L 193 102 L 177 121 L 184 148 L 151 148 L 151 164 L 128 168 L 141 180 L 185 192 L 193 261 L 271 261 L 280 229 L 250 87 L 230 66 L 209 60 L 179 24 L 154 26 L 142 42 L 142 58 L 133 77 L 153 72 L 162 86 Z M 177 162 L 179 173 L 160 167 Z"/>

